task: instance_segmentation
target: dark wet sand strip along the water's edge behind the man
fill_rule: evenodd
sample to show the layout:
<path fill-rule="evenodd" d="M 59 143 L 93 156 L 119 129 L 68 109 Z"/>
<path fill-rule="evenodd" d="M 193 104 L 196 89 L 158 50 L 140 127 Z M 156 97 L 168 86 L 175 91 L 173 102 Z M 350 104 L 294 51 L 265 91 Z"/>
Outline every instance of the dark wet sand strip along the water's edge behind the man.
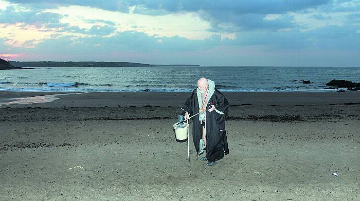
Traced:
<path fill-rule="evenodd" d="M 0 91 L 0 107 L 117 107 L 117 106 L 178 106 L 181 107 L 191 92 L 9 92 Z M 357 91 L 339 92 L 223 92 L 230 105 L 244 104 L 243 102 L 268 102 L 276 105 L 278 102 L 320 102 L 333 104 L 334 100 L 343 103 L 359 103 L 360 93 Z M 33 98 L 33 100 L 31 100 Z M 55 99 L 53 99 L 55 98 Z M 242 99 L 242 100 L 239 100 Z M 309 99 L 310 98 L 310 99 Z M 25 103 L 11 104 L 9 102 Z M 38 101 L 39 99 L 43 101 Z M 168 99 L 168 102 L 164 102 Z M 51 101 L 47 101 L 51 100 Z M 86 101 L 85 101 L 86 100 Z M 27 101 L 27 102 L 26 102 Z M 33 101 L 34 103 L 29 103 Z M 243 101 L 243 102 L 242 102 Z M 242 103 L 240 103 L 242 102 Z M 26 104 L 28 103 L 28 104 Z M 133 103 L 133 104 L 131 104 Z M 39 105 L 40 104 L 40 105 Z M 51 105 L 50 105 L 51 104 Z M 341 104 L 341 103 L 336 103 Z M 286 104 L 285 104 L 286 105 Z"/>

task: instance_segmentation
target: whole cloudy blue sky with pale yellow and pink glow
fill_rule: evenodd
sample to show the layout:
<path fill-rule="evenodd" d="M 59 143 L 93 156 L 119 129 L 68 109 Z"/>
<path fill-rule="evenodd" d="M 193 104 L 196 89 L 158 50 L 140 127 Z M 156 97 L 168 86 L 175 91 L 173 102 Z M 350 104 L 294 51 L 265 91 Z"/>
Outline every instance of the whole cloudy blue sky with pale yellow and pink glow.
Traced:
<path fill-rule="evenodd" d="M 0 58 L 360 66 L 360 0 L 0 0 Z"/>

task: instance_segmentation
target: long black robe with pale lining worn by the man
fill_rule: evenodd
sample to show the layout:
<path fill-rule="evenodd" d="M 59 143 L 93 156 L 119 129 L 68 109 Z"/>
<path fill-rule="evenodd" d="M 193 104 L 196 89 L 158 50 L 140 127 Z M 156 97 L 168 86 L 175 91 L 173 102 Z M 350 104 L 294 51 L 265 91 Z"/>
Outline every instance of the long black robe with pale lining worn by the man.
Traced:
<path fill-rule="evenodd" d="M 227 144 L 227 137 L 225 131 L 225 116 L 229 103 L 225 96 L 218 90 L 214 89 L 214 93 L 210 97 L 206 108 L 214 105 L 216 109 L 222 111 L 224 114 L 219 114 L 213 110 L 209 112 L 206 110 L 206 157 L 208 162 L 220 160 L 229 153 Z M 199 103 L 197 100 L 196 89 L 192 92 L 191 96 L 186 100 L 182 109 L 189 113 L 190 116 L 199 112 Z M 196 153 L 199 156 L 200 152 L 200 139 L 202 139 L 202 126 L 200 124 L 199 115 L 192 118 L 192 138 Z"/>

